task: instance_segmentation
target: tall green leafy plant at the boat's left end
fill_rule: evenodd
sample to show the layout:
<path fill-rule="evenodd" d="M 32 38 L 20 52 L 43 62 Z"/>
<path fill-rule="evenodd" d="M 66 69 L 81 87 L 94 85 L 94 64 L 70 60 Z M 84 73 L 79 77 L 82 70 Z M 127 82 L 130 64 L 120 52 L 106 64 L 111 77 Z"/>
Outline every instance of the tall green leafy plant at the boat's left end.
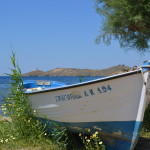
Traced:
<path fill-rule="evenodd" d="M 45 134 L 45 127 L 34 118 L 28 95 L 23 92 L 21 70 L 16 63 L 15 53 L 12 52 L 10 69 L 10 94 L 4 100 L 2 110 L 11 118 L 12 133 L 16 138 L 41 138 Z"/>

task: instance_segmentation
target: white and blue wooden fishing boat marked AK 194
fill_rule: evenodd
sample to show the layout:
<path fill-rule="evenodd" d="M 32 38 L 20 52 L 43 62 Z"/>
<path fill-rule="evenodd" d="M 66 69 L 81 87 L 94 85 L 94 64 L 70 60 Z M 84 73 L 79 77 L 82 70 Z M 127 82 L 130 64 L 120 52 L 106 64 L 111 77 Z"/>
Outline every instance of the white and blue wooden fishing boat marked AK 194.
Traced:
<path fill-rule="evenodd" d="M 132 150 L 146 109 L 150 62 L 137 70 L 65 85 L 25 82 L 36 117 L 44 116 L 74 132 L 100 133 L 107 150 Z"/>

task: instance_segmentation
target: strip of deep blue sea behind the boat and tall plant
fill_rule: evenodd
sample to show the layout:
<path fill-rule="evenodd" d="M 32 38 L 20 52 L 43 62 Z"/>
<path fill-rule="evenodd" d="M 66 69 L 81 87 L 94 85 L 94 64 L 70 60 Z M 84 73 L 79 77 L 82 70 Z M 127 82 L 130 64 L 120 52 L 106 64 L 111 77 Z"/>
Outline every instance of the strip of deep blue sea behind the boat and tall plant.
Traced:
<path fill-rule="evenodd" d="M 83 81 L 90 81 L 94 79 L 98 79 L 100 77 L 84 77 Z M 50 80 L 50 81 L 59 81 L 66 83 L 68 85 L 79 83 L 81 77 L 23 77 L 23 81 L 25 80 Z M 3 103 L 3 99 L 7 98 L 8 93 L 10 91 L 10 77 L 9 76 L 0 76 L 0 105 Z M 0 107 L 0 115 L 2 115 L 1 107 Z"/>

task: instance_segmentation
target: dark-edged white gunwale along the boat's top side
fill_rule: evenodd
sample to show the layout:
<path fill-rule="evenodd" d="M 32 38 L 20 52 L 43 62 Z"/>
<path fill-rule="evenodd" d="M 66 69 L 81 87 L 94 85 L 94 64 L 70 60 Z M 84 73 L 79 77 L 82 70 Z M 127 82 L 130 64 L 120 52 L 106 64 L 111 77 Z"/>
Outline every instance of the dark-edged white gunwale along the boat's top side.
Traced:
<path fill-rule="evenodd" d="M 40 90 L 40 91 L 25 92 L 25 93 L 28 94 L 28 95 L 32 95 L 32 94 L 40 94 L 40 93 L 46 93 L 46 92 L 51 92 L 51 91 L 70 89 L 70 88 L 74 88 L 74 87 L 80 87 L 80 86 L 85 86 L 85 85 L 89 85 L 89 84 L 95 84 L 95 83 L 98 83 L 98 82 L 104 82 L 104 81 L 108 81 L 108 80 L 112 80 L 112 79 L 122 78 L 124 76 L 138 74 L 138 73 L 141 73 L 141 72 L 142 72 L 142 70 L 139 69 L 139 70 L 130 71 L 130 72 L 126 72 L 126 73 L 115 74 L 115 75 L 112 75 L 112 76 L 98 78 L 98 79 L 90 80 L 90 81 L 86 81 L 86 82 L 81 82 L 81 83 L 76 83 L 76 84 L 71 84 L 71 85 L 65 85 L 65 86 L 55 87 L 55 88 L 50 88 L 50 89 L 44 89 L 44 90 Z"/>

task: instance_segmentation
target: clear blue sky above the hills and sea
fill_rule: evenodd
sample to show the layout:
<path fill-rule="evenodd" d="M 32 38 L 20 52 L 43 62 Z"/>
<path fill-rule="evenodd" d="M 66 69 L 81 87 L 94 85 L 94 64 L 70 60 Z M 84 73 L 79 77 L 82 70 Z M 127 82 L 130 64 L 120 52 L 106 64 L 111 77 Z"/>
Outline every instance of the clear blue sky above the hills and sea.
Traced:
<path fill-rule="evenodd" d="M 133 67 L 150 58 L 124 51 L 117 40 L 96 44 L 101 27 L 94 0 L 0 0 L 0 75 L 10 73 L 12 50 L 22 73 Z"/>

